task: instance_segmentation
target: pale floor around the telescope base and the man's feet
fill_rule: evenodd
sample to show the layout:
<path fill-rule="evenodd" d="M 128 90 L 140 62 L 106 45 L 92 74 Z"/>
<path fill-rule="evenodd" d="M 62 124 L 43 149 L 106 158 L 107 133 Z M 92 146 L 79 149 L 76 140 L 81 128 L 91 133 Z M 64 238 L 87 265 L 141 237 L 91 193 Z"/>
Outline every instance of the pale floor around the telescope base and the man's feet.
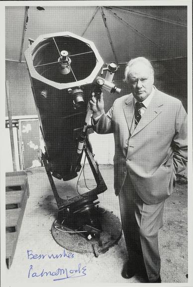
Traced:
<path fill-rule="evenodd" d="M 120 218 L 118 197 L 113 190 L 113 166 L 100 165 L 100 172 L 108 187 L 100 194 L 100 206 L 112 211 Z M 57 281 L 57 285 L 99 285 L 125 286 L 128 283 L 144 283 L 138 275 L 130 280 L 121 277 L 121 270 L 127 260 L 123 236 L 118 244 L 111 247 L 98 258 L 94 254 L 71 252 L 73 258 L 49 259 L 47 255 L 56 255 L 64 251 L 53 239 L 51 226 L 57 216 L 57 205 L 53 196 L 44 167 L 32 168 L 27 171 L 30 196 L 26 205 L 20 235 L 9 270 L 6 270 L 6 286 L 52 286 L 53 276 L 31 277 L 34 272 L 39 275 L 42 270 L 56 271 L 58 268 L 67 270 L 86 266 L 86 276 Z M 89 166 L 86 165 L 85 176 L 90 188 L 95 186 Z M 75 192 L 75 181 L 62 182 L 56 180 L 61 190 L 65 185 L 65 196 Z M 79 190 L 85 190 L 84 178 L 81 176 Z M 85 190 L 86 191 L 86 190 Z M 188 229 L 187 229 L 187 184 L 177 183 L 172 196 L 165 204 L 164 227 L 160 230 L 159 245 L 161 254 L 161 277 L 163 283 L 187 283 L 188 279 Z M 44 259 L 28 259 L 27 250 L 33 254 L 46 255 Z M 66 250 L 66 254 L 69 251 Z M 31 258 L 31 257 L 30 257 Z M 29 273 L 31 267 L 31 271 Z M 82 273 L 81 273 L 82 274 Z M 28 278 L 29 275 L 29 278 Z M 59 278 L 59 277 L 58 277 Z M 135 285 L 136 286 L 136 285 Z"/>

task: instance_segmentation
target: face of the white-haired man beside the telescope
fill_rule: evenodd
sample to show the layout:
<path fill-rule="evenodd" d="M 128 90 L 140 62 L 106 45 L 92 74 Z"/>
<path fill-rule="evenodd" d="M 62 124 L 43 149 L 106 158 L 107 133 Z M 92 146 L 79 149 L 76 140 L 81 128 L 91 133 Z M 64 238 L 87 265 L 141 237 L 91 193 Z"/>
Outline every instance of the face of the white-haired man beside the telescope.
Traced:
<path fill-rule="evenodd" d="M 154 83 L 152 70 L 144 63 L 133 64 L 128 74 L 128 82 L 135 99 L 142 102 L 152 92 Z"/>

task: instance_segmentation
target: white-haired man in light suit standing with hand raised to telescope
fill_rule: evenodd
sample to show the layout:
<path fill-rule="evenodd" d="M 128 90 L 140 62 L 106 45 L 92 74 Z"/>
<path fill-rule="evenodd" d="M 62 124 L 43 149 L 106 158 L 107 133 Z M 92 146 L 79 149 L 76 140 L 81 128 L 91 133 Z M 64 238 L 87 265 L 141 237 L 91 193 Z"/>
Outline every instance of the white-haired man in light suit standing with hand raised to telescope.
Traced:
<path fill-rule="evenodd" d="M 158 231 L 176 174 L 187 164 L 187 114 L 181 101 L 156 89 L 154 70 L 143 57 L 125 68 L 131 94 L 104 113 L 102 94 L 93 94 L 93 128 L 114 134 L 114 189 L 129 261 L 122 276 L 135 275 L 143 262 L 148 282 L 161 283 Z"/>

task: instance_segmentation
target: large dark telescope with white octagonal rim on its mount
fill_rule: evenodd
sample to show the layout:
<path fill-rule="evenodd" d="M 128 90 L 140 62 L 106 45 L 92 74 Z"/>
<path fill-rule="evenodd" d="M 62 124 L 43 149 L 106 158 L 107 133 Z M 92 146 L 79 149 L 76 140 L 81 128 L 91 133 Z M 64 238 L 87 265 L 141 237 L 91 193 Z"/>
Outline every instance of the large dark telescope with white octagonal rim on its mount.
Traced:
<path fill-rule="evenodd" d="M 65 219 L 72 230 L 85 228 L 87 235 L 97 236 L 101 227 L 95 201 L 107 187 L 88 138 L 92 115 L 89 99 L 96 86 L 99 90 L 120 92 L 112 83 L 117 65 L 110 63 L 104 69 L 106 78 L 97 78 L 103 60 L 95 44 L 71 32 L 41 35 L 30 43 L 24 55 L 45 143 L 42 161 L 59 209 L 59 222 L 62 224 Z M 97 187 L 63 199 L 53 176 L 64 181 L 75 178 L 81 169 L 83 151 Z"/>

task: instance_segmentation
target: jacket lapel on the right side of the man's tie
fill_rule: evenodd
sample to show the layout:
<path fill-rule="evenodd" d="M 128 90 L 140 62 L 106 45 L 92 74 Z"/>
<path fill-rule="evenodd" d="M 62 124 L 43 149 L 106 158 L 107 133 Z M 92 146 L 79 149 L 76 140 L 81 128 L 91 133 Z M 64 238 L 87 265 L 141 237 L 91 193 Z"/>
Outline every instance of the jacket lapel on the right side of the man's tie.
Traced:
<path fill-rule="evenodd" d="M 132 137 L 137 133 L 139 133 L 143 128 L 145 128 L 149 123 L 151 123 L 162 112 L 162 106 L 163 106 L 162 98 L 159 95 L 159 91 L 156 89 L 149 106 L 147 107 L 137 127 L 133 131 Z"/>

